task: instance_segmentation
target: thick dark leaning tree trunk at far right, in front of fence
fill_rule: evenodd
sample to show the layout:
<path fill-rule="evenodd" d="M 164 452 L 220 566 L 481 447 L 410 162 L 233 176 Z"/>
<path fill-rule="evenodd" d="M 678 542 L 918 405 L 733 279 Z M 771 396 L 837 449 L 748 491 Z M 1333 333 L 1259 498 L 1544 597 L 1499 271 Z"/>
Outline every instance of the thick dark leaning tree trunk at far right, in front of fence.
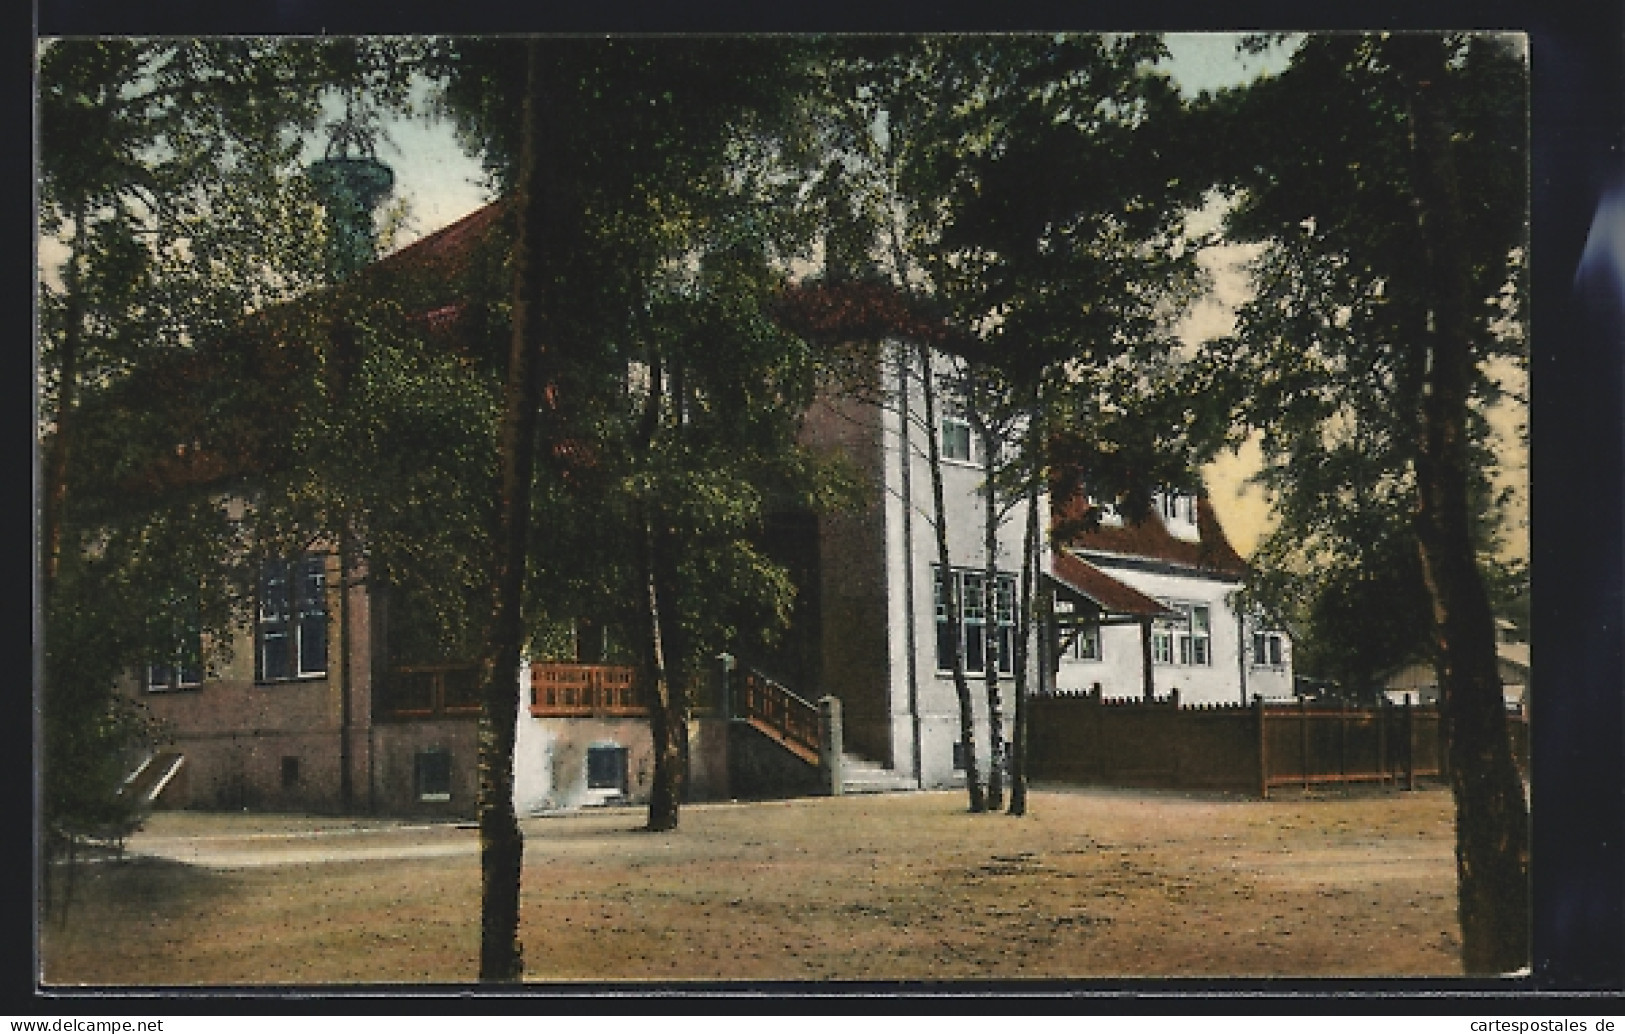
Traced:
<path fill-rule="evenodd" d="M 1417 455 L 1417 538 L 1433 603 L 1440 697 L 1456 798 L 1462 966 L 1529 964 L 1529 813 L 1506 733 L 1495 621 L 1469 512 L 1467 392 L 1472 374 L 1462 215 L 1450 151 L 1443 37 L 1396 41 L 1412 86 L 1412 159 L 1425 242 L 1432 350 Z"/>

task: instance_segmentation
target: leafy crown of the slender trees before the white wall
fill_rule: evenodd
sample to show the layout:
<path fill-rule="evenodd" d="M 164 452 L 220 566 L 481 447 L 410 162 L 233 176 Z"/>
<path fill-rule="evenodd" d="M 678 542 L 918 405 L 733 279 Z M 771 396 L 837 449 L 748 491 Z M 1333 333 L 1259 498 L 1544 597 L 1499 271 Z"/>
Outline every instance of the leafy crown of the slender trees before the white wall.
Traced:
<path fill-rule="evenodd" d="M 869 250 L 894 283 L 960 328 L 934 335 L 960 363 L 949 392 L 983 454 L 1008 457 L 983 488 L 990 571 L 998 527 L 1046 486 L 1053 460 L 1110 494 L 1190 470 L 1196 406 L 1172 379 L 1172 328 L 1201 283 L 1185 213 L 1206 180 L 1185 154 L 1178 91 L 1154 68 L 1162 55 L 1152 36 L 941 37 L 847 55 L 845 226 L 873 226 Z M 996 673 L 988 704 L 998 730 Z"/>

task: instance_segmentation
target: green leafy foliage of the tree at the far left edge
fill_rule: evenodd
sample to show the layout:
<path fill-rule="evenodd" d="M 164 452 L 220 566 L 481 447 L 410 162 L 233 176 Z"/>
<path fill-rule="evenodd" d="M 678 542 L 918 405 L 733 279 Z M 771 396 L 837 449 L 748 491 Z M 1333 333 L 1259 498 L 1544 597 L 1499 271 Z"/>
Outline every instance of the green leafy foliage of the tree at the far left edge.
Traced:
<path fill-rule="evenodd" d="M 273 39 L 41 46 L 50 824 L 115 802 L 112 776 L 132 728 L 110 717 L 115 678 L 169 655 L 177 628 L 188 639 L 197 624 L 223 631 L 245 595 L 234 577 L 242 566 L 229 559 L 242 545 L 237 519 L 205 493 L 159 499 L 145 489 L 223 470 L 224 458 L 180 424 L 210 428 L 216 441 L 249 437 L 219 382 L 197 376 L 197 350 L 322 281 L 301 132 L 318 122 L 322 88 L 343 80 L 343 49 Z M 202 408 L 182 419 L 174 410 L 193 390 Z"/>

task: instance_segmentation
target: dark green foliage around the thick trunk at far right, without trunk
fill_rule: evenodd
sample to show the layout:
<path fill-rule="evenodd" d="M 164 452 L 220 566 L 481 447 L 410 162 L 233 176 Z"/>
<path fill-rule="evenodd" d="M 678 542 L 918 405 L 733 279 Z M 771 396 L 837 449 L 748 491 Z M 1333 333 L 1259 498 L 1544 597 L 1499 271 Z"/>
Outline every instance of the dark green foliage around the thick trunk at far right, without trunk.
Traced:
<path fill-rule="evenodd" d="M 1480 299 L 1471 491 L 1488 566 L 1502 510 L 1485 415 L 1503 397 L 1497 372 L 1524 363 L 1524 73 L 1495 39 L 1469 37 L 1451 75 Z M 1303 670 L 1370 693 L 1383 668 L 1432 658 L 1422 569 L 1402 556 L 1406 543 L 1414 553 L 1427 363 L 1417 340 L 1430 306 L 1412 272 L 1428 244 L 1414 206 L 1410 99 L 1384 41 L 1344 36 L 1303 41 L 1289 73 L 1217 106 L 1237 112 L 1219 161 L 1245 187 L 1225 232 L 1264 244 L 1237 337 L 1207 356 L 1246 400 L 1235 431 L 1261 432 L 1259 480 L 1279 524 L 1261 545 L 1258 595 L 1302 636 Z M 1336 132 L 1282 140 L 1280 125 Z"/>

